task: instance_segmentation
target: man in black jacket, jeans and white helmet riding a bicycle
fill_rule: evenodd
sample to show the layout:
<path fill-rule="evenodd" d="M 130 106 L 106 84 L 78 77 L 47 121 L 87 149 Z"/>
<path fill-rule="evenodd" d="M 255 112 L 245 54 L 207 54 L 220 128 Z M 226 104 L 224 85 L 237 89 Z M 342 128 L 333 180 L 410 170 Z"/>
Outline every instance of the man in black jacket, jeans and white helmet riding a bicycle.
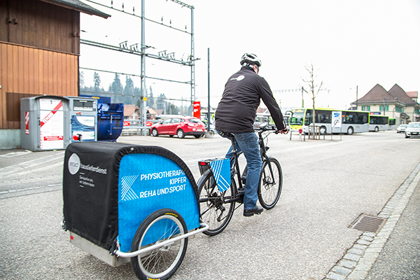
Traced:
<path fill-rule="evenodd" d="M 216 131 L 230 132 L 235 135 L 237 151 L 242 151 L 248 165 L 244 193 L 244 216 L 260 214 L 262 207 L 257 206 L 258 179 L 261 172 L 261 156 L 258 137 L 253 130 L 260 99 L 267 106 L 276 129 L 288 133 L 283 114 L 273 97 L 265 78 L 258 76 L 261 61 L 256 55 L 244 54 L 241 69 L 230 76 L 225 84 L 221 102 L 216 109 Z M 232 146 L 226 158 L 232 159 Z"/>

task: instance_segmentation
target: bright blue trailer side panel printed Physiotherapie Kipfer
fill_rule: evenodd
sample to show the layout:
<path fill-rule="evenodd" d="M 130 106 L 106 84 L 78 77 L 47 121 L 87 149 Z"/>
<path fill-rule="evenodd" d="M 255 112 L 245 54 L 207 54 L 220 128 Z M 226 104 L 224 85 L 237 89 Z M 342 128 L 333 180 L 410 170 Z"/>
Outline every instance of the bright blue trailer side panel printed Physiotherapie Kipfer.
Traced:
<path fill-rule="evenodd" d="M 174 209 L 188 230 L 200 226 L 197 197 L 184 170 L 162 155 L 125 155 L 118 179 L 118 241 L 130 251 L 134 234 L 144 219 L 158 209 Z M 143 245 L 156 240 L 144 240 Z"/>

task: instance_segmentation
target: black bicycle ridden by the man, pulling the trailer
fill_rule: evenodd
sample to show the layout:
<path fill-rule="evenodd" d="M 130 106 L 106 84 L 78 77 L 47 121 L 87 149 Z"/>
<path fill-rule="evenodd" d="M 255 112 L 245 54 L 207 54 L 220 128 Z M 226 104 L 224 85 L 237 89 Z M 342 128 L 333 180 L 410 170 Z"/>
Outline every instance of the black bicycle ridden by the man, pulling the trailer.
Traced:
<path fill-rule="evenodd" d="M 283 184 L 283 173 L 278 160 L 269 157 L 264 140 L 271 133 L 278 133 L 272 125 L 266 125 L 258 130 L 258 144 L 262 158 L 260 179 L 258 181 L 258 201 L 265 209 L 272 209 L 279 201 Z M 246 180 L 247 167 L 241 175 L 238 158 L 241 153 L 237 153 L 235 146 L 235 135 L 224 133 L 232 142 L 233 159 L 230 167 L 231 183 L 228 190 L 219 190 L 214 174 L 209 166 L 209 162 L 200 161 L 200 166 L 207 166 L 202 176 L 197 182 L 198 193 L 200 195 L 200 221 L 209 225 L 209 229 L 204 234 L 209 236 L 218 235 L 223 232 L 232 219 L 233 212 L 241 206 L 244 198 L 244 185 Z M 204 162 L 204 164 L 203 164 Z M 237 179 L 235 180 L 235 176 Z M 237 185 L 239 188 L 237 188 Z M 235 204 L 239 206 L 235 208 Z"/>

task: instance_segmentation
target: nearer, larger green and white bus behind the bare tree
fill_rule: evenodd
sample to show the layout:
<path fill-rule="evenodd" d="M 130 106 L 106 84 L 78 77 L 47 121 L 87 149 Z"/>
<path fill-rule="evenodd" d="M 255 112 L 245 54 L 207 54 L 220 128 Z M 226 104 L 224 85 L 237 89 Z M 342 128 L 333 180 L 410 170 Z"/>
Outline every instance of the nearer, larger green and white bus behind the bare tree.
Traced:
<path fill-rule="evenodd" d="M 289 118 L 290 130 L 302 130 L 309 132 L 312 126 L 313 109 L 292 109 Z M 332 125 L 332 112 L 340 112 L 342 115 L 342 125 L 337 128 Z M 347 111 L 317 108 L 315 109 L 315 125 L 319 127 L 321 134 L 327 133 L 361 133 L 369 131 L 369 112 L 366 111 Z"/>

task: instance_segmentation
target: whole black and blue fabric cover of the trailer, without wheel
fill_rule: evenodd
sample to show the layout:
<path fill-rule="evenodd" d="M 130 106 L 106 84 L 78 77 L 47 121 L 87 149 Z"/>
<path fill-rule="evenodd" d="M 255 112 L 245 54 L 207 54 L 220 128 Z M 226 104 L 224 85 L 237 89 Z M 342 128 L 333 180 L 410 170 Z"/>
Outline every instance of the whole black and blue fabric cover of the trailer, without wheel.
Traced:
<path fill-rule="evenodd" d="M 158 146 L 75 142 L 64 156 L 64 222 L 71 232 L 109 250 L 131 249 L 137 228 L 158 209 L 178 211 L 198 228 L 197 185 L 185 162 Z"/>

